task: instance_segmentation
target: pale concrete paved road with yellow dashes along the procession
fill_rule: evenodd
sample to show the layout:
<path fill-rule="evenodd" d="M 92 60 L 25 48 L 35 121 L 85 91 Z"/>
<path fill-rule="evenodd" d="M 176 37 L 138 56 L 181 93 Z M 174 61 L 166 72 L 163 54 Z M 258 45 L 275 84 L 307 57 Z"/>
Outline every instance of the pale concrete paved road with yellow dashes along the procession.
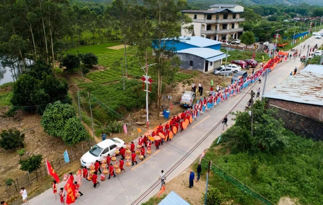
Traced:
<path fill-rule="evenodd" d="M 323 32 L 323 29 L 318 33 Z M 323 39 L 315 39 L 315 36 L 307 39 L 304 43 L 310 44 L 313 47 L 315 44 L 319 46 L 322 45 Z M 304 45 L 297 46 L 299 50 L 300 47 Z M 306 55 L 307 49 L 302 48 L 302 54 Z M 283 64 L 284 63 L 284 64 Z M 289 73 L 295 68 L 300 67 L 301 62 L 299 58 L 288 60 L 286 63 L 279 64 L 278 67 L 272 71 L 266 82 L 266 91 L 269 91 L 277 83 L 283 81 L 289 76 Z M 97 186 L 96 189 L 93 188 L 92 182 L 83 181 L 80 191 L 84 194 L 76 200 L 77 205 L 91 205 L 91 204 L 111 204 L 111 205 L 127 205 L 135 201 L 142 193 L 144 193 L 154 182 L 157 181 L 161 169 L 168 171 L 169 167 L 172 167 L 177 163 L 178 159 L 183 156 L 183 153 L 190 150 L 191 147 L 201 139 L 205 133 L 207 133 L 210 128 L 220 122 L 224 115 L 227 114 L 231 109 L 233 111 L 243 111 L 247 101 L 250 99 L 250 90 L 255 91 L 256 88 L 260 87 L 263 89 L 265 78 L 263 78 L 262 83 L 256 83 L 254 86 L 249 86 L 247 89 L 239 93 L 235 97 L 231 97 L 228 101 L 220 103 L 214 109 L 209 112 L 204 113 L 200 116 L 197 121 L 190 125 L 182 133 L 177 134 L 173 137 L 170 143 L 164 143 L 160 147 L 160 150 L 156 151 L 154 146 L 152 146 L 152 155 L 149 159 L 145 159 L 143 162 L 138 163 L 135 167 L 125 167 L 126 172 L 117 175 L 116 178 L 107 179 Z M 228 127 L 234 122 L 231 120 L 233 116 L 228 115 Z M 227 128 L 225 128 L 226 130 Z M 224 131 L 225 131 L 224 130 Z M 176 177 L 178 174 L 182 173 L 192 162 L 199 156 L 202 151 L 208 148 L 211 143 L 221 134 L 222 124 L 220 124 L 216 129 L 199 145 L 192 154 L 185 159 L 181 164 L 179 164 L 170 175 L 167 177 L 167 181 Z M 187 176 L 188 178 L 188 176 Z M 166 181 L 166 182 L 167 182 Z M 187 180 L 188 183 L 188 180 Z M 188 184 L 187 184 L 188 185 Z M 64 186 L 64 182 L 58 185 L 58 189 Z M 143 201 L 148 200 L 154 194 L 159 191 L 160 185 L 153 189 L 151 193 L 145 194 Z M 29 204 L 47 204 L 55 205 L 59 204 L 59 200 L 53 200 L 52 190 L 48 189 L 44 193 L 38 195 L 37 197 L 29 200 Z"/>

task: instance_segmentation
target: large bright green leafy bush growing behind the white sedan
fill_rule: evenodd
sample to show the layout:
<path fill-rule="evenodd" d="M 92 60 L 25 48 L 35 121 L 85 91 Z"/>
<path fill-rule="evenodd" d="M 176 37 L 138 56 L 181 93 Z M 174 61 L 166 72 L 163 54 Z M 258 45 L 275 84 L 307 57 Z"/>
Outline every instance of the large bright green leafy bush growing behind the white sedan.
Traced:
<path fill-rule="evenodd" d="M 88 133 L 78 120 L 73 107 L 59 101 L 47 105 L 40 123 L 47 134 L 62 137 L 67 145 L 75 145 L 88 138 Z"/>

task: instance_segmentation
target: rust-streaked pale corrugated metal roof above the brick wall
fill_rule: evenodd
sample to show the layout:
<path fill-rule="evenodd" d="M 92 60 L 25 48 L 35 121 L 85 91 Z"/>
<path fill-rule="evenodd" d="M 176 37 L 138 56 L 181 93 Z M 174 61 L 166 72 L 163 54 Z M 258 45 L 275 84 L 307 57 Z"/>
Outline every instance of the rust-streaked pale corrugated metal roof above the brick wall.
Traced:
<path fill-rule="evenodd" d="M 263 95 L 267 98 L 323 106 L 323 74 L 301 70 Z"/>

